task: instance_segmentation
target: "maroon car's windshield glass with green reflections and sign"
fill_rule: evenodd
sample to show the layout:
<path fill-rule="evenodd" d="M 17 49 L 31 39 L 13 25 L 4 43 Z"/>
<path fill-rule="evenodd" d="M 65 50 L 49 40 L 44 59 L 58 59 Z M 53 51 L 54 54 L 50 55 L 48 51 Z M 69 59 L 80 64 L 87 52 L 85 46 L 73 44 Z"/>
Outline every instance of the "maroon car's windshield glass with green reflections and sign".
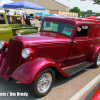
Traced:
<path fill-rule="evenodd" d="M 42 24 L 42 30 L 60 32 L 62 34 L 71 36 L 73 25 L 58 23 L 58 22 L 44 21 Z"/>

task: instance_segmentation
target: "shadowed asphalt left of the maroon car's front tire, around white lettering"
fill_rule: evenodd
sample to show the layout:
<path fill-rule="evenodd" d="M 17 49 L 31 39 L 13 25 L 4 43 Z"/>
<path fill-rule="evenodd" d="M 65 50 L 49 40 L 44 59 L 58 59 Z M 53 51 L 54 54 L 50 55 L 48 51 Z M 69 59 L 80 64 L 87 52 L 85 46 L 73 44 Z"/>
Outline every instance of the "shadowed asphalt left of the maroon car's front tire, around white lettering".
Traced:
<path fill-rule="evenodd" d="M 17 84 L 16 80 L 12 79 L 10 82 L 0 78 L 0 93 L 6 93 L 8 95 L 1 96 L 0 100 L 35 100 L 36 98 L 30 92 L 28 84 Z M 15 93 L 13 95 L 12 93 Z M 28 95 L 17 95 L 17 93 L 27 93 Z"/>

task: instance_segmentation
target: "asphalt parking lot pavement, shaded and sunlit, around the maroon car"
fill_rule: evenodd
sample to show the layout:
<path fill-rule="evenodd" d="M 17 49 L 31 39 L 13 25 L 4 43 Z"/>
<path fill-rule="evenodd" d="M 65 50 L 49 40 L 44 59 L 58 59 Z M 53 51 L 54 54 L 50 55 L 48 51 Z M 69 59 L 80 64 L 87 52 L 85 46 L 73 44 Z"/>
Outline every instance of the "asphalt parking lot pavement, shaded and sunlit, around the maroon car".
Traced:
<path fill-rule="evenodd" d="M 14 79 L 7 82 L 0 78 L 0 93 L 9 94 L 8 96 L 0 96 L 0 100 L 70 100 L 71 97 L 73 97 L 99 74 L 100 67 L 89 67 L 69 78 L 56 73 L 56 80 L 53 89 L 49 92 L 49 94 L 42 98 L 35 98 L 30 92 L 29 85 L 22 83 L 17 84 Z M 99 86 L 100 81 L 86 91 L 79 100 L 90 100 Z M 28 93 L 28 96 L 11 96 L 11 93 Z"/>

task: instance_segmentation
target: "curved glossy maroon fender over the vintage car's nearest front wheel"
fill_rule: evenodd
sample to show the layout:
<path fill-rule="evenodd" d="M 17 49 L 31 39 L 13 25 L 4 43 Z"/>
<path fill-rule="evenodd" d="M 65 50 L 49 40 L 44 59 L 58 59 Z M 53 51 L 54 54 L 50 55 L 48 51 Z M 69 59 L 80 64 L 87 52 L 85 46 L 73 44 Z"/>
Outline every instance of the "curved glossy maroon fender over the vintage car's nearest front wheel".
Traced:
<path fill-rule="evenodd" d="M 48 58 L 36 58 L 35 60 L 26 62 L 20 67 L 18 67 L 11 75 L 11 77 L 24 84 L 29 84 L 36 79 L 36 77 L 44 68 L 49 66 L 53 66 L 59 72 L 65 74 L 63 70 L 54 61 Z"/>

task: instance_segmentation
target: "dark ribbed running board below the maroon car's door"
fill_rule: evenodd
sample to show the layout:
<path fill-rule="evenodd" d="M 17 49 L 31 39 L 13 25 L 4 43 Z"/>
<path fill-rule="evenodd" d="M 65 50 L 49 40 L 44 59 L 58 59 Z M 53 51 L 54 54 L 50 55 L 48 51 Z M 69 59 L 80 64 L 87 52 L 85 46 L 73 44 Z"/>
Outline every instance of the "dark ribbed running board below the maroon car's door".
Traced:
<path fill-rule="evenodd" d="M 92 62 L 83 62 L 83 63 L 77 64 L 77 65 L 69 66 L 67 68 L 62 68 L 62 70 L 69 75 L 73 75 L 93 64 L 94 63 L 92 63 Z"/>

